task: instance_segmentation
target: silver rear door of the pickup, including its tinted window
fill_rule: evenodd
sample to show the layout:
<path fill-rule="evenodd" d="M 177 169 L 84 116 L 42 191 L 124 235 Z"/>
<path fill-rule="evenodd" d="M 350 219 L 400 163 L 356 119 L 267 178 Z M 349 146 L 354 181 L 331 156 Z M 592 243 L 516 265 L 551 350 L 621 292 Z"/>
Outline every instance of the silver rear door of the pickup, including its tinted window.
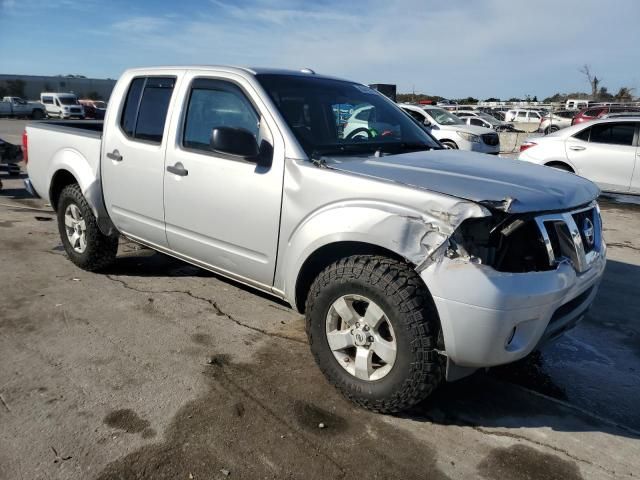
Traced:
<path fill-rule="evenodd" d="M 159 247 L 167 246 L 164 155 L 176 82 L 175 72 L 133 77 L 114 91 L 112 98 L 121 101 L 109 108 L 102 141 L 102 189 L 111 219 L 122 233 Z"/>

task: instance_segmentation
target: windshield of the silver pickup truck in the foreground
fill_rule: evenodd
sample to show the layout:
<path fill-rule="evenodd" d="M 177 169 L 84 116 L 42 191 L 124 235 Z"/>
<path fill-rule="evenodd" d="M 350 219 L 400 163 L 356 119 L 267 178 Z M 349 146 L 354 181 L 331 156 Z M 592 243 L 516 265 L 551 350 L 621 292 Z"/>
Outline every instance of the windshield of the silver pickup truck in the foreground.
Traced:
<path fill-rule="evenodd" d="M 391 100 L 364 85 L 279 74 L 257 79 L 310 157 L 441 148 Z"/>

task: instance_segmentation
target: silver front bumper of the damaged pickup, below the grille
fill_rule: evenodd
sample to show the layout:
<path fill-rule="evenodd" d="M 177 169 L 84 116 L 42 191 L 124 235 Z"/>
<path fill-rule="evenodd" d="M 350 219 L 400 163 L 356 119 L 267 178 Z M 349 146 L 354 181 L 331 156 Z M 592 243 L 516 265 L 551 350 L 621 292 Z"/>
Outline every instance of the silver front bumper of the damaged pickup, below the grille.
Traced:
<path fill-rule="evenodd" d="M 555 270 L 498 272 L 444 258 L 421 272 L 438 310 L 448 369 L 510 363 L 573 327 L 596 296 L 606 264 L 605 247 L 590 268 L 568 262 Z M 448 378 L 463 375 L 447 375 Z"/>

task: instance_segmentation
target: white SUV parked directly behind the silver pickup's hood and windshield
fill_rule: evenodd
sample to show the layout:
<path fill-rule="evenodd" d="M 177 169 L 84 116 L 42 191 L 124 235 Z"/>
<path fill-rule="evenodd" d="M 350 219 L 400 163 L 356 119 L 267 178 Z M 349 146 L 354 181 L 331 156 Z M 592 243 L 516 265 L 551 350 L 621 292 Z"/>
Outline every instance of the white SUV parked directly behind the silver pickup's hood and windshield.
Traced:
<path fill-rule="evenodd" d="M 400 105 L 400 107 L 443 145 L 473 152 L 500 153 L 500 137 L 490 128 L 466 125 L 443 108 L 432 106 Z"/>

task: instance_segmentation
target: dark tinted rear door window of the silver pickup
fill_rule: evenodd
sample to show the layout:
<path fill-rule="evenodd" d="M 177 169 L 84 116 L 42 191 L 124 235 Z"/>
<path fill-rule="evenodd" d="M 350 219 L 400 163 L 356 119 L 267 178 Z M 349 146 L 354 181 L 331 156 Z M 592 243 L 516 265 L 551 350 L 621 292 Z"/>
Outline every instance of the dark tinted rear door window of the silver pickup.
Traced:
<path fill-rule="evenodd" d="M 131 82 L 120 126 L 129 137 L 153 143 L 162 141 L 175 78 L 136 78 Z"/>

